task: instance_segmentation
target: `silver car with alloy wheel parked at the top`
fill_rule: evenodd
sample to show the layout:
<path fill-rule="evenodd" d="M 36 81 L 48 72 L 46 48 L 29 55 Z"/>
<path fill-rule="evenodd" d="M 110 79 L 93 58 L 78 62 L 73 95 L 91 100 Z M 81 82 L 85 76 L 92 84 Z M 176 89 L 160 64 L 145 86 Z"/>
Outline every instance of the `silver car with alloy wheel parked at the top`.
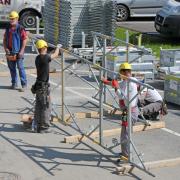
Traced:
<path fill-rule="evenodd" d="M 126 21 L 129 17 L 155 17 L 168 0 L 115 0 L 117 21 Z"/>

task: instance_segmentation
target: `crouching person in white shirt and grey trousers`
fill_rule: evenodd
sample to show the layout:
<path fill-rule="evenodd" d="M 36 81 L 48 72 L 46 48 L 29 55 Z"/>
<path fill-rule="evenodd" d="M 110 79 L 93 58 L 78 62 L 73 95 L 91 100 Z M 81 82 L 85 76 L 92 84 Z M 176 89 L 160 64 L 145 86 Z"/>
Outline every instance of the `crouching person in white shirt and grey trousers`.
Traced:
<path fill-rule="evenodd" d="M 141 87 L 138 88 L 140 90 Z M 143 89 L 139 95 L 138 106 L 144 118 L 148 120 L 157 120 L 160 113 L 167 114 L 167 108 L 163 103 L 163 99 L 156 89 Z"/>

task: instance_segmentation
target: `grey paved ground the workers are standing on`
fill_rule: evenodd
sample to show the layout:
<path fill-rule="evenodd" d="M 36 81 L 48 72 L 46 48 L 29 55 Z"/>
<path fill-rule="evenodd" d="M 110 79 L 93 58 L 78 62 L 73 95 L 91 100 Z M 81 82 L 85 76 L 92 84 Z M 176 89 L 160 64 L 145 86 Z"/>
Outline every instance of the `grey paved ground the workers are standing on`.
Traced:
<path fill-rule="evenodd" d="M 3 52 L 0 47 L 0 52 Z M 1 55 L 0 59 L 4 59 Z M 69 64 L 69 61 L 66 62 Z M 25 67 L 34 67 L 34 57 L 26 56 Z M 51 68 L 60 67 L 53 62 Z M 95 85 L 93 79 L 88 76 L 88 68 L 78 65 L 78 73 Z M 7 72 L 6 62 L 0 64 L 0 72 Z M 96 73 L 96 72 L 95 72 Z M 10 77 L 0 76 L 0 179 L 22 180 L 58 180 L 58 179 L 152 179 L 145 173 L 137 172 L 134 175 L 118 176 L 114 173 L 114 162 L 110 162 L 105 156 L 110 157 L 109 152 L 98 145 L 88 141 L 76 144 L 65 144 L 63 139 L 67 135 L 77 134 L 75 130 L 60 123 L 52 124 L 50 133 L 34 134 L 22 127 L 21 114 L 31 108 L 28 101 L 32 102 L 33 95 L 30 92 L 31 85 L 35 81 L 35 74 L 28 75 L 28 88 L 26 92 L 10 90 Z M 51 87 L 54 88 L 60 82 L 60 75 L 51 75 Z M 153 83 L 163 95 L 163 82 Z M 94 105 L 87 103 L 92 100 L 95 90 L 84 84 L 78 78 L 66 72 L 66 104 L 72 112 L 89 112 L 98 110 Z M 52 101 L 56 112 L 60 113 L 61 89 L 56 88 L 52 92 Z M 24 110 L 24 111 L 23 111 Z M 169 105 L 169 114 L 165 117 L 166 128 L 176 134 L 163 129 L 134 134 L 134 142 L 137 149 L 144 153 L 145 161 L 156 161 L 180 157 L 180 107 Z M 84 132 L 95 127 L 97 119 L 77 121 Z M 74 127 L 75 124 L 72 124 Z M 103 122 L 105 129 L 119 127 L 118 120 Z M 112 138 L 104 139 L 107 146 L 112 145 Z M 115 149 L 119 152 L 119 148 Z M 102 156 L 103 154 L 103 156 Z M 177 179 L 180 167 L 156 169 L 152 172 L 158 180 Z M 8 178 L 7 178 L 8 177 Z"/>

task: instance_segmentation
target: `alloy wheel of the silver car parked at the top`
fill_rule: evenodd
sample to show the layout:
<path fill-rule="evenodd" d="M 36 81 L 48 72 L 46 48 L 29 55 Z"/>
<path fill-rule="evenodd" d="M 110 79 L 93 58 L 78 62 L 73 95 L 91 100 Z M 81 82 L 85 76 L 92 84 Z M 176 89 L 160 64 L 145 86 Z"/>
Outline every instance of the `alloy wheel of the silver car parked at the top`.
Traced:
<path fill-rule="evenodd" d="M 117 5 L 117 21 L 126 21 L 129 17 L 129 10 L 126 6 L 123 5 Z"/>

